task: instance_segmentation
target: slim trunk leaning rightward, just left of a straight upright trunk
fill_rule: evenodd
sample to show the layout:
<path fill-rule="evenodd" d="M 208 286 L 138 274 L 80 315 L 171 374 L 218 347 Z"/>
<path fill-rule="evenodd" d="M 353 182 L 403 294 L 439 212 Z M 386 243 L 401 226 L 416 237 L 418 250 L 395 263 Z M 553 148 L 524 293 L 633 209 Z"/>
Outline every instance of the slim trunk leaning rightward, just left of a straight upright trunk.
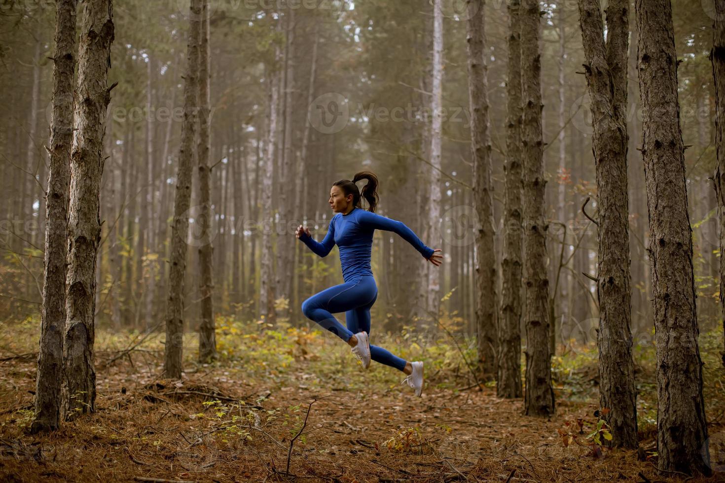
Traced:
<path fill-rule="evenodd" d="M 186 275 L 186 237 L 191 201 L 191 167 L 194 162 L 196 106 L 199 100 L 199 35 L 202 0 L 191 0 L 189 8 L 188 51 L 184 76 L 184 112 L 181 125 L 181 149 L 176 175 L 174 219 L 171 229 L 169 298 L 166 307 L 165 377 L 181 379 L 183 357 L 184 276 Z"/>

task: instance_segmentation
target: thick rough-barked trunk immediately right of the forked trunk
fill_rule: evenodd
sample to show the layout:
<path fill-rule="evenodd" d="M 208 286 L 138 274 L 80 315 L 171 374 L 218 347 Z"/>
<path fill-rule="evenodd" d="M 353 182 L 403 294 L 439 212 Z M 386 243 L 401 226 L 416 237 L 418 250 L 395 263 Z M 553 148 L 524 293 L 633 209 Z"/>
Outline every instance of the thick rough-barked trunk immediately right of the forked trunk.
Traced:
<path fill-rule="evenodd" d="M 637 0 L 657 344 L 658 468 L 710 473 L 670 0 Z"/>

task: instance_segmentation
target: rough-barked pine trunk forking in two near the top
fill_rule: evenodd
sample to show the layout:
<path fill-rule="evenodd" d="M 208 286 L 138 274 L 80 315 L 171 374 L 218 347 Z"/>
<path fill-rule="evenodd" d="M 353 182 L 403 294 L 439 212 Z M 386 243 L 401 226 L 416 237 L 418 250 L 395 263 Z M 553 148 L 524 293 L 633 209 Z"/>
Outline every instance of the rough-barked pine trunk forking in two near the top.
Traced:
<path fill-rule="evenodd" d="M 637 392 L 631 346 L 629 195 L 627 193 L 627 38 L 629 0 L 611 0 L 604 40 L 599 0 L 579 0 L 584 69 L 592 102 L 592 150 L 597 170 L 600 322 L 600 406 L 613 439 L 637 448 Z"/>

